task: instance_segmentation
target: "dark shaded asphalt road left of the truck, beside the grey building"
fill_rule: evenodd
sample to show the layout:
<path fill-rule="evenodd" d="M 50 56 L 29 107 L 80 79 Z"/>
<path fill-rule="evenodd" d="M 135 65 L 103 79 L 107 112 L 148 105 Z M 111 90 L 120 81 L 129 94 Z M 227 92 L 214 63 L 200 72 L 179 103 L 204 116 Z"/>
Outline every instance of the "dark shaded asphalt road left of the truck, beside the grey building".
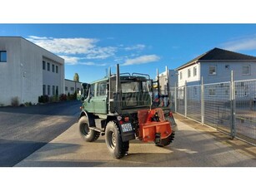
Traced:
<path fill-rule="evenodd" d="M 78 121 L 79 101 L 0 108 L 0 166 L 13 166 Z"/>

